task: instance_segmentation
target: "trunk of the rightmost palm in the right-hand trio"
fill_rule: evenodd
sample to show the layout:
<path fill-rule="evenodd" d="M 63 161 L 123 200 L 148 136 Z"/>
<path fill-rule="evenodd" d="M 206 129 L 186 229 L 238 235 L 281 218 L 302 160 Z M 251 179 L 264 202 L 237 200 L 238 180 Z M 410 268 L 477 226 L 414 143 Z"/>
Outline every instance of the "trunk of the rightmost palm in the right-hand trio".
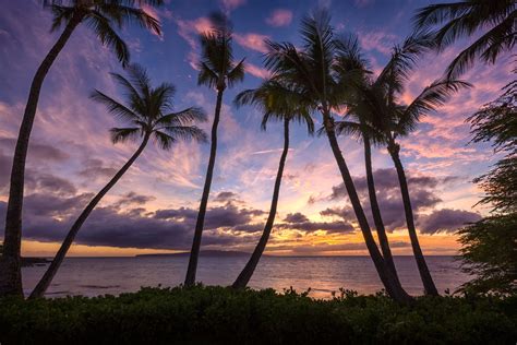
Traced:
<path fill-rule="evenodd" d="M 418 270 L 420 277 L 422 278 L 423 288 L 426 295 L 437 296 L 438 290 L 434 285 L 431 273 L 429 272 L 428 263 L 420 248 L 420 243 L 414 228 L 413 211 L 411 207 L 411 200 L 409 198 L 408 181 L 406 179 L 406 172 L 404 171 L 402 162 L 399 156 L 400 146 L 396 143 L 390 143 L 388 152 L 397 169 L 398 182 L 400 185 L 400 193 L 402 195 L 404 212 L 406 214 L 406 223 L 408 225 L 409 239 L 411 240 L 411 247 L 413 249 L 414 259 L 417 260 Z"/>

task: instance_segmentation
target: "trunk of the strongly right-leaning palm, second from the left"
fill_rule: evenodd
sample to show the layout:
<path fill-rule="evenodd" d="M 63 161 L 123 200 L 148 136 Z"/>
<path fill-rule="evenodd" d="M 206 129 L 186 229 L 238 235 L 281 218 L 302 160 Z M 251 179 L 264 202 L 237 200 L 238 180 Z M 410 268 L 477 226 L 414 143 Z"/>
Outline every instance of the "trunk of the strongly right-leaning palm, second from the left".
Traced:
<path fill-rule="evenodd" d="M 92 211 L 95 209 L 95 206 L 99 203 L 99 201 L 106 195 L 106 193 L 119 181 L 119 179 L 128 171 L 128 169 L 133 165 L 133 163 L 136 160 L 136 158 L 142 154 L 144 151 L 145 146 L 147 145 L 147 142 L 149 141 L 149 135 L 146 134 L 144 136 L 144 140 L 140 147 L 136 150 L 136 152 L 131 156 L 131 158 L 125 163 L 122 168 L 111 178 L 111 180 L 98 193 L 95 195 L 94 199 L 88 203 L 86 209 L 81 213 L 81 215 L 77 217 L 75 223 L 72 225 L 70 228 L 70 231 L 67 234 L 67 237 L 64 238 L 63 243 L 59 248 L 58 253 L 53 258 L 52 262 L 48 266 L 47 271 L 45 272 L 44 276 L 39 281 L 39 283 L 36 285 L 34 290 L 32 292 L 29 298 L 37 298 L 37 297 L 43 297 L 47 288 L 50 286 L 50 283 L 52 282 L 53 276 L 59 270 L 59 266 L 63 262 L 64 257 L 67 255 L 67 252 L 70 249 L 70 246 L 72 246 L 73 240 L 75 239 L 75 236 L 77 235 L 79 230 L 83 226 L 84 222 L 86 218 L 89 216 Z"/>

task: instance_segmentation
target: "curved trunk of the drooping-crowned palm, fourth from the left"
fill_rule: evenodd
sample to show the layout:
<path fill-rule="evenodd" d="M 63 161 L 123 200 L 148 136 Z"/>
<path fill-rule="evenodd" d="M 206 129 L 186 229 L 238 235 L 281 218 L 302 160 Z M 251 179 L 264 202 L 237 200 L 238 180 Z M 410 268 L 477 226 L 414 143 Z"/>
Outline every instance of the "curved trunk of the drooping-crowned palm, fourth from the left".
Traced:
<path fill-rule="evenodd" d="M 269 215 L 267 217 L 266 225 L 264 227 L 264 231 L 262 233 L 262 237 L 258 243 L 255 247 L 255 250 L 251 254 L 250 260 L 248 261 L 247 265 L 242 270 L 242 272 L 237 277 L 236 282 L 233 283 L 233 288 L 244 288 L 251 279 L 253 272 L 255 272 L 256 265 L 258 264 L 258 260 L 266 248 L 267 240 L 269 239 L 269 235 L 273 229 L 273 224 L 275 222 L 276 209 L 278 205 L 278 195 L 280 193 L 280 183 L 281 183 L 281 176 L 284 175 L 284 167 L 286 165 L 287 153 L 289 152 L 289 120 L 286 119 L 284 121 L 284 151 L 280 156 L 280 163 L 278 165 L 278 172 L 276 175 L 275 180 L 275 189 L 273 191 L 273 199 L 272 205 L 269 209 Z"/>

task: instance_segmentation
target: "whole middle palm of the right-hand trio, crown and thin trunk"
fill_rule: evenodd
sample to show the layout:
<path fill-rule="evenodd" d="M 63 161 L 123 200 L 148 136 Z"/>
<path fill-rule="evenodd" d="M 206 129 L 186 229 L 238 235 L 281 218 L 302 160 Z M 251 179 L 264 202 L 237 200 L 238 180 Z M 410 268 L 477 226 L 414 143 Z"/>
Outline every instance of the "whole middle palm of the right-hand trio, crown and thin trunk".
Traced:
<path fill-rule="evenodd" d="M 375 118 L 373 114 L 369 111 L 370 109 L 364 107 L 364 104 L 361 102 L 361 94 L 357 92 L 357 88 L 361 90 L 361 87 L 371 83 L 371 71 L 369 70 L 368 61 L 362 57 L 357 37 L 344 37 L 337 44 L 339 53 L 336 62 L 336 71 L 342 87 L 348 87 L 349 92 L 346 96 L 346 118 L 341 121 L 336 121 L 336 132 L 337 134 L 351 134 L 363 143 L 368 194 L 378 242 L 388 269 L 392 270 L 394 278 L 400 284 L 378 206 L 375 181 L 373 178 L 372 143 L 375 146 L 381 145 L 383 143 L 383 135 L 372 126 L 372 121 L 375 121 Z"/>

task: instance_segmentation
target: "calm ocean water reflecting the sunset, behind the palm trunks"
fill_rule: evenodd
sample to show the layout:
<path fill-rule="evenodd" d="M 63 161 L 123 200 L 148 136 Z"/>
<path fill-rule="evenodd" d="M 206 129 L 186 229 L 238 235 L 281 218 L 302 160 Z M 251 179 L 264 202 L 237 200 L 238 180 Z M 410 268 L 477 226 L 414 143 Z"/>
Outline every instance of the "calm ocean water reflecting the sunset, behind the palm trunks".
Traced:
<path fill-rule="evenodd" d="M 205 285 L 230 285 L 248 258 L 200 258 L 197 281 Z M 469 276 L 453 257 L 426 257 L 435 284 L 442 293 L 454 292 Z M 400 281 L 411 295 L 423 287 L 412 257 L 396 257 Z M 97 296 L 136 292 L 142 286 L 176 286 L 183 282 L 188 258 L 69 258 L 65 259 L 47 292 L 48 297 L 67 295 Z M 29 294 L 47 266 L 23 269 L 25 293 Z M 282 292 L 311 288 L 310 296 L 329 298 L 340 287 L 360 294 L 374 294 L 382 284 L 369 257 L 264 257 L 250 287 Z"/>

